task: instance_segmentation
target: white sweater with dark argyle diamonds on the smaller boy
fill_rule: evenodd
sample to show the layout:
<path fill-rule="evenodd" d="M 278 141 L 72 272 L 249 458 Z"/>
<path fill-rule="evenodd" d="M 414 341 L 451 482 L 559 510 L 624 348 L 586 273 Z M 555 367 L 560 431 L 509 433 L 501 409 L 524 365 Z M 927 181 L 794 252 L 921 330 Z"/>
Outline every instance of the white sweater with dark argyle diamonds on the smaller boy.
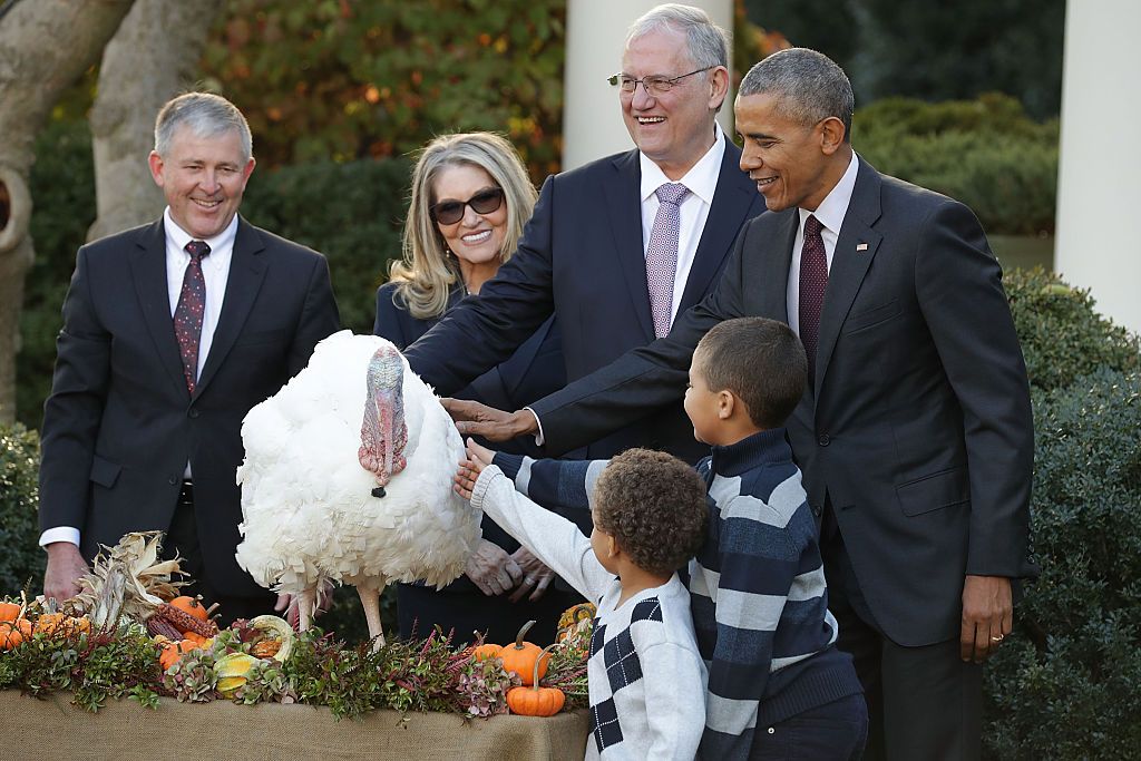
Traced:
<path fill-rule="evenodd" d="M 690 761 L 704 723 L 705 666 L 678 575 L 616 605 L 622 584 L 590 540 L 516 492 L 499 468 L 479 475 L 471 504 L 598 606 L 586 661 L 586 758 Z"/>

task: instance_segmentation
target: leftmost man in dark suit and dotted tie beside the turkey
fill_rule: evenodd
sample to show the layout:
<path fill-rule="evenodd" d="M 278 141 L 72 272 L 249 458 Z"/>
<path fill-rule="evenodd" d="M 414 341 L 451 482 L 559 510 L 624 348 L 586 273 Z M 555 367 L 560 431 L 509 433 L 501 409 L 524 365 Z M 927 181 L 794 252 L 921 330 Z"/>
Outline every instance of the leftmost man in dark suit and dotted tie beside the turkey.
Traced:
<path fill-rule="evenodd" d="M 64 300 L 42 427 L 44 593 L 70 598 L 99 544 L 162 529 L 192 593 L 250 617 L 274 598 L 234 557 L 242 419 L 337 330 L 329 267 L 237 216 L 254 161 L 225 98 L 163 106 L 149 163 L 162 219 L 81 248 Z"/>

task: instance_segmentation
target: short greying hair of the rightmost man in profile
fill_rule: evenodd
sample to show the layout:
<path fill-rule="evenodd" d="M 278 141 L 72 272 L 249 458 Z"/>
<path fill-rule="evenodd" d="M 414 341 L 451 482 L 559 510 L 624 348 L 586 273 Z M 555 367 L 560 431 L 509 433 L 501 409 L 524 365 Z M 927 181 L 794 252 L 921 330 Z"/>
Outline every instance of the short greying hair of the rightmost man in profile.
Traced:
<path fill-rule="evenodd" d="M 754 65 L 741 80 L 737 97 L 774 95 L 778 112 L 801 124 L 835 116 L 851 140 L 856 98 L 844 70 L 823 52 L 808 48 L 777 50 Z"/>

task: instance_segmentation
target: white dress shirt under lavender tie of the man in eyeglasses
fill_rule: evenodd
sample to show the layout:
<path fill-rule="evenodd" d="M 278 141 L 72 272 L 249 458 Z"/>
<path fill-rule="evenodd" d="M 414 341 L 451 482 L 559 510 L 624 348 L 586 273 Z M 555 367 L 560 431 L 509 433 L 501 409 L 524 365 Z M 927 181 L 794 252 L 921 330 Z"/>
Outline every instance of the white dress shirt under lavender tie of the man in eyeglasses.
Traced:
<path fill-rule="evenodd" d="M 705 230 L 710 208 L 713 205 L 713 194 L 717 192 L 717 180 L 721 173 L 721 161 L 725 159 L 725 139 L 721 126 L 713 122 L 713 146 L 705 152 L 686 175 L 677 180 L 687 188 L 689 194 L 681 200 L 680 226 L 678 229 L 678 268 L 673 274 L 673 303 L 670 305 L 670 323 L 678 316 L 681 296 L 686 291 L 689 270 L 694 267 L 697 244 Z M 638 154 L 641 164 L 641 209 L 642 209 L 642 253 L 649 250 L 649 235 L 657 217 L 657 188 L 665 183 L 673 183 L 662 168 L 655 164 L 645 153 Z"/>

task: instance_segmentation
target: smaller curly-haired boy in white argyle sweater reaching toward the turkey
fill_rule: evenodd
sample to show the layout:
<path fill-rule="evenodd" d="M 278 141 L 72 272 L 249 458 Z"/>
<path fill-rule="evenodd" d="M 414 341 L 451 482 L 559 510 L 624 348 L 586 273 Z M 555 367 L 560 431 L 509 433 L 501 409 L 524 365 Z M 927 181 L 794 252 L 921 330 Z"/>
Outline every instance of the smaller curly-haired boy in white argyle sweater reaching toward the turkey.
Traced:
<path fill-rule="evenodd" d="M 598 607 L 586 662 L 586 758 L 693 759 L 705 666 L 675 572 L 704 540 L 705 484 L 664 452 L 623 452 L 596 473 L 588 540 L 519 494 L 488 450 L 470 439 L 468 447 L 455 491 Z"/>

